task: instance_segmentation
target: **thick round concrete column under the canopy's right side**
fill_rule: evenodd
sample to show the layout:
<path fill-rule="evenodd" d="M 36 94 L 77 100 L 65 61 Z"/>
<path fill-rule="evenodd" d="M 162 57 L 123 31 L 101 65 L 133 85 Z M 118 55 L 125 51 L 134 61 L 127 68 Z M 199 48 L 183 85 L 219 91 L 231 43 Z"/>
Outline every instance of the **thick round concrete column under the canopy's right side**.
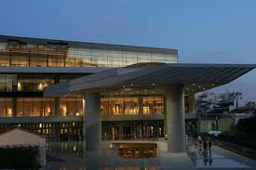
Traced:
<path fill-rule="evenodd" d="M 185 152 L 185 116 L 183 85 L 167 89 L 168 152 Z"/>

